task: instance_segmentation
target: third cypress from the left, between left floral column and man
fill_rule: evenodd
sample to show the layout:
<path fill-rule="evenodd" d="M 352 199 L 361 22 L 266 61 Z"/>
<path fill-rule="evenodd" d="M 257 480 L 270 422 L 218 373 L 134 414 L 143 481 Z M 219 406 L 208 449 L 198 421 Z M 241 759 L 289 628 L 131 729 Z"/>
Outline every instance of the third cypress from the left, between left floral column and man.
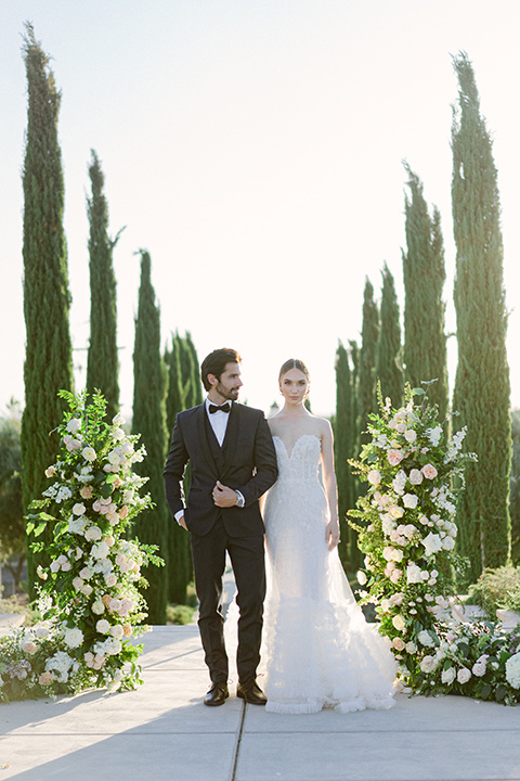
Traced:
<path fill-rule="evenodd" d="M 133 420 L 134 434 L 141 434 L 147 457 L 136 464 L 147 475 L 148 491 L 155 507 L 145 510 L 135 524 L 139 539 L 159 547 L 158 554 L 168 563 L 168 533 L 170 517 L 166 504 L 162 470 L 165 468 L 166 432 L 166 366 L 160 355 L 160 315 L 155 304 L 151 279 L 151 258 L 141 251 L 141 284 L 139 289 L 135 344 L 133 349 Z M 146 601 L 151 624 L 166 623 L 168 566 L 150 566 Z"/>

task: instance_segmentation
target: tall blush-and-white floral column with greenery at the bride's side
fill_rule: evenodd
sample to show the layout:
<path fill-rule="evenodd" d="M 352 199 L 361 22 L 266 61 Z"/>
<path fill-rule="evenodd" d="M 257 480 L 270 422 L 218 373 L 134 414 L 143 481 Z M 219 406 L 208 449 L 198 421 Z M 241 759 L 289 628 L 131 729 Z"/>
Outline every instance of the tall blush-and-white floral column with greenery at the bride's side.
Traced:
<path fill-rule="evenodd" d="M 448 436 L 448 420 L 438 422 L 421 388 L 407 387 L 398 410 L 380 389 L 378 400 L 372 441 L 351 461 L 368 489 L 349 515 L 363 520 L 350 522 L 365 554 L 361 603 L 375 604 L 399 662 L 398 688 L 516 704 L 520 637 L 492 622 L 457 622 L 451 610 L 454 576 L 464 568 L 454 550 L 457 491 L 465 460 L 476 458 L 461 451 L 466 430 Z"/>

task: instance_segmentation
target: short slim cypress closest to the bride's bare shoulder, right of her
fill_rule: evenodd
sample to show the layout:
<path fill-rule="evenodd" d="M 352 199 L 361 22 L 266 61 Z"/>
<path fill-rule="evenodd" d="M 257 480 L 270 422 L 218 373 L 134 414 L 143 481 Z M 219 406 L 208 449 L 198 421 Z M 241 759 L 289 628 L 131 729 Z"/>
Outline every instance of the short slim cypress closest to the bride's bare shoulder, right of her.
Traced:
<path fill-rule="evenodd" d="M 346 567 L 350 566 L 349 542 L 353 529 L 347 522 L 347 512 L 354 507 L 354 485 L 348 460 L 354 454 L 352 372 L 349 356 L 342 343 L 336 350 L 336 420 L 334 435 L 334 458 L 338 481 L 338 509 L 341 530 L 339 555 Z"/>

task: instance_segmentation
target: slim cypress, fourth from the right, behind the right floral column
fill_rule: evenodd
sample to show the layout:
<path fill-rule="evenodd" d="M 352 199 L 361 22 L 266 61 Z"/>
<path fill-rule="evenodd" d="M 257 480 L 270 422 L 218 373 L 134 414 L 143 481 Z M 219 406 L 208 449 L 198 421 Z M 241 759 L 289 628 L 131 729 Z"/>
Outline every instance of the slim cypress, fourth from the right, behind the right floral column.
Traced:
<path fill-rule="evenodd" d="M 359 413 L 360 443 L 369 440 L 365 434 L 368 415 L 376 408 L 376 353 L 379 338 L 379 312 L 374 300 L 374 287 L 366 280 L 363 300 L 363 327 L 361 331 L 361 353 L 359 373 Z"/>

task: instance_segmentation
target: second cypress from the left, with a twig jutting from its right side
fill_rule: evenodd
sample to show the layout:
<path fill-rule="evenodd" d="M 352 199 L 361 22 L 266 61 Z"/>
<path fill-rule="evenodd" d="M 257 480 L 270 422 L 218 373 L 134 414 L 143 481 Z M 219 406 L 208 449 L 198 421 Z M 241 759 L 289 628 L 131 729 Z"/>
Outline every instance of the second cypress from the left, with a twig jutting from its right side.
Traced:
<path fill-rule="evenodd" d="M 119 409 L 119 359 L 117 355 L 116 277 L 113 249 L 115 239 L 108 236 L 108 205 L 103 192 L 105 177 L 100 159 L 91 151 L 89 176 L 92 197 L 87 201 L 90 238 L 90 344 L 87 362 L 87 389 L 101 390 L 107 400 L 108 420 Z"/>

